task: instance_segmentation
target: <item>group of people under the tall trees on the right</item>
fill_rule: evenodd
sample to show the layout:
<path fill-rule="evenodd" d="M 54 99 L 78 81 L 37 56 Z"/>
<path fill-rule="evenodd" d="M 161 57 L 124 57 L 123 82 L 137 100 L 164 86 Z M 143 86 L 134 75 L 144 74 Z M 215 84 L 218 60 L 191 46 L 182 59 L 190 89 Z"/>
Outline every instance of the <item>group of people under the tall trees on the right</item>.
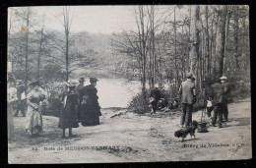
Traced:
<path fill-rule="evenodd" d="M 178 97 L 182 104 L 182 114 L 180 118 L 180 127 L 189 126 L 192 124 L 193 104 L 197 102 L 198 89 L 195 85 L 195 77 L 192 73 L 186 75 L 186 81 L 182 82 L 178 90 Z M 222 123 L 228 121 L 227 99 L 229 98 L 230 87 L 226 83 L 227 78 L 222 77 L 214 83 L 210 78 L 206 78 L 203 83 L 204 107 L 207 108 L 207 115 L 212 119 L 212 126 L 216 127 L 217 117 L 219 118 L 219 128 L 222 128 Z M 150 107 L 151 113 L 156 113 L 158 104 L 164 102 L 160 98 L 160 89 L 158 84 L 151 90 Z M 174 99 L 174 103 L 168 105 L 168 109 L 177 108 L 179 105 L 178 98 Z M 214 111 L 214 115 L 211 113 Z M 224 120 L 223 120 L 224 117 Z"/>

